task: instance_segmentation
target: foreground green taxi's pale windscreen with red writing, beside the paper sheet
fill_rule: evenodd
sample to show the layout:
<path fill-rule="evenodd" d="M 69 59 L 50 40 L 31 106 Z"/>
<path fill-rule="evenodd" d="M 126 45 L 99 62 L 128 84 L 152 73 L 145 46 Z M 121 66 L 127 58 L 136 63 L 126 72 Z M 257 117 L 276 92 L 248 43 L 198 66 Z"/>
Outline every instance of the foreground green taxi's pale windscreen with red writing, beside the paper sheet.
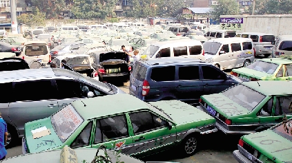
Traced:
<path fill-rule="evenodd" d="M 59 139 L 65 142 L 69 136 L 84 122 L 72 105 L 67 105 L 53 114 L 50 118 L 52 127 Z"/>

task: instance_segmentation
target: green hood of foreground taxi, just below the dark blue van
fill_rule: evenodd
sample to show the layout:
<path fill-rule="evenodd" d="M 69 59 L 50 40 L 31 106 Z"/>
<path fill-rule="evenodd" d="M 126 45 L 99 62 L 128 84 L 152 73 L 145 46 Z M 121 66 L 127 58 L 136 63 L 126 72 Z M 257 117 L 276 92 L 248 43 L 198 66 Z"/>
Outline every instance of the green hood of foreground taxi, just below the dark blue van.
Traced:
<path fill-rule="evenodd" d="M 215 123 L 215 119 L 204 111 L 179 100 L 162 100 L 149 103 L 167 113 L 173 119 L 175 124 L 184 124 L 196 121 L 204 122 L 205 124 Z"/>

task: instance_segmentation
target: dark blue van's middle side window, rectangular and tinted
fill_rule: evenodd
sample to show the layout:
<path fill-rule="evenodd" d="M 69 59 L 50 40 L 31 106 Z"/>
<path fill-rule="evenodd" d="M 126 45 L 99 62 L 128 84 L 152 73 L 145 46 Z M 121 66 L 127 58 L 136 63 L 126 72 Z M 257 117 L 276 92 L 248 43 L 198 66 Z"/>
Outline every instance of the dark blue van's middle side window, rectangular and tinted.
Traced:
<path fill-rule="evenodd" d="M 199 80 L 199 66 L 179 67 L 179 80 Z"/>

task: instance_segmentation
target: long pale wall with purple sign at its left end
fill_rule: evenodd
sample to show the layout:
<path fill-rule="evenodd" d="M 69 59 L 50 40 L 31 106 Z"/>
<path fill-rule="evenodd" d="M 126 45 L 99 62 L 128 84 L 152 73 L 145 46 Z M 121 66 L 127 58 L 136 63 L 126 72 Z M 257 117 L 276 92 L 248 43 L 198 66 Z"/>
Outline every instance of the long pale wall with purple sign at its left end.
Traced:
<path fill-rule="evenodd" d="M 237 32 L 262 32 L 275 36 L 292 35 L 290 26 L 292 25 L 292 14 L 222 15 L 220 18 L 229 18 L 225 19 L 229 23 L 220 21 L 220 29 L 237 30 Z M 240 21 L 242 22 L 240 23 Z M 239 26 L 240 28 L 238 28 Z"/>

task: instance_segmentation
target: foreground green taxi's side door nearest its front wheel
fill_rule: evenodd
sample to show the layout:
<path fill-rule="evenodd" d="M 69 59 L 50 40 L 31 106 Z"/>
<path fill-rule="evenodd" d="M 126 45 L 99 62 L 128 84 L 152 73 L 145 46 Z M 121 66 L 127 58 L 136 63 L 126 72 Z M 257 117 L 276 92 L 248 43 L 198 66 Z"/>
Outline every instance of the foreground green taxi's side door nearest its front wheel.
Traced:
<path fill-rule="evenodd" d="M 148 155 L 161 151 L 176 140 L 176 129 L 162 117 L 150 111 L 137 111 L 129 113 L 130 122 L 133 127 L 133 149 L 132 154 Z"/>

